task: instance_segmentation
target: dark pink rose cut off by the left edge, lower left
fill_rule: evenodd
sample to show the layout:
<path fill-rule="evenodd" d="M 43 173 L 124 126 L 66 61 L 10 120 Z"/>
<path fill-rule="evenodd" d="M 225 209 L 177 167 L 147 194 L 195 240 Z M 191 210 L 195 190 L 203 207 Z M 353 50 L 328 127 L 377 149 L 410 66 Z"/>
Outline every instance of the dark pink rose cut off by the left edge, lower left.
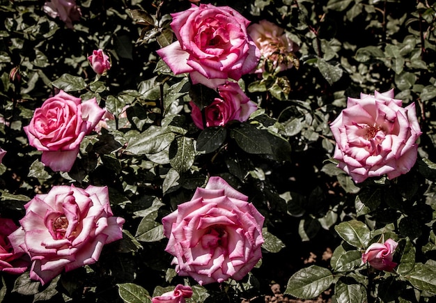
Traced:
<path fill-rule="evenodd" d="M 11 219 L 0 218 L 0 271 L 9 274 L 22 274 L 29 267 L 29 260 L 22 258 L 24 251 L 14 251 L 8 235 L 16 231 L 17 225 Z"/>

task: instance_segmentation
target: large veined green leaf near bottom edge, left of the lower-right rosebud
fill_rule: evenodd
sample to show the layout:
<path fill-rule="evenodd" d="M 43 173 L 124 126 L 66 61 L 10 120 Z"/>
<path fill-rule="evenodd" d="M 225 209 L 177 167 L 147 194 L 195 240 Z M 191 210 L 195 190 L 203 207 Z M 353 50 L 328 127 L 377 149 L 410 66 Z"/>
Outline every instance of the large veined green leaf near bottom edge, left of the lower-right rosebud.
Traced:
<path fill-rule="evenodd" d="M 318 265 L 311 265 L 293 274 L 286 286 L 285 295 L 300 299 L 318 297 L 334 281 L 332 272 Z"/>

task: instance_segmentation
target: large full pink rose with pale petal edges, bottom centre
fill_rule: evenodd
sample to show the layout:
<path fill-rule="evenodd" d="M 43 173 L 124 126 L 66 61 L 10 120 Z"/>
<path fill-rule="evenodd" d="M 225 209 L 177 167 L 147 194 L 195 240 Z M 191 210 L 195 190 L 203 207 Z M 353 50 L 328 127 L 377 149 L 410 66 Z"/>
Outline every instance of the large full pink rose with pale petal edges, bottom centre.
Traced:
<path fill-rule="evenodd" d="M 192 200 L 162 219 L 165 251 L 176 272 L 200 285 L 242 279 L 262 258 L 265 219 L 248 197 L 220 177 L 196 189 Z"/>

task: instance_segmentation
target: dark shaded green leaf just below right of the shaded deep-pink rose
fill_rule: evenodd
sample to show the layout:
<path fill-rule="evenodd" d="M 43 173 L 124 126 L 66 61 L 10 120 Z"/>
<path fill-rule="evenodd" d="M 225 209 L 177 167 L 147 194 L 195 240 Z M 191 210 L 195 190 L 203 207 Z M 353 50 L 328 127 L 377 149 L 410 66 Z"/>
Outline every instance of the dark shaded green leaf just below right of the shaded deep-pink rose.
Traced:
<path fill-rule="evenodd" d="M 271 146 L 265 144 L 268 139 L 264 132 L 264 130 L 258 130 L 254 125 L 244 123 L 241 127 L 231 130 L 231 137 L 247 153 L 271 154 Z"/>

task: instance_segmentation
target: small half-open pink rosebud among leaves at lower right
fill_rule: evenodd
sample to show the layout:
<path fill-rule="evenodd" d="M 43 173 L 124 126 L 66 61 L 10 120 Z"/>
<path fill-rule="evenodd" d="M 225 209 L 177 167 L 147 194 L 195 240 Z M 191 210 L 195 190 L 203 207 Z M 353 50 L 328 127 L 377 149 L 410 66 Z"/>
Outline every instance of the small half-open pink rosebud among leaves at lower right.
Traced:
<path fill-rule="evenodd" d="M 382 243 L 373 243 L 365 253 L 362 254 L 361 259 L 364 263 L 368 262 L 369 265 L 376 270 L 386 270 L 390 272 L 396 267 L 397 263 L 392 262 L 392 256 L 398 243 L 392 239 L 388 239 Z"/>

